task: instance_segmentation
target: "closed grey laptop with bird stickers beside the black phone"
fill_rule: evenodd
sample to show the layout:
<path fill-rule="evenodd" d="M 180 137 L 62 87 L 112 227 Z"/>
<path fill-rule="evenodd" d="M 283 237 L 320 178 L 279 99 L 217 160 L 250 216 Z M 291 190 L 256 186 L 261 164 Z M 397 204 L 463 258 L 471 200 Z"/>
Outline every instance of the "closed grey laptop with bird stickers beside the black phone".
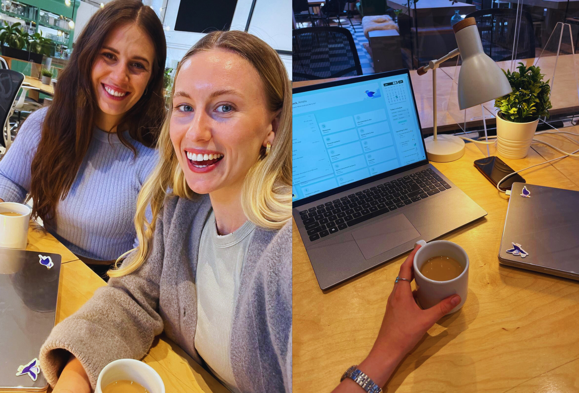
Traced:
<path fill-rule="evenodd" d="M 578 191 L 513 183 L 499 262 L 579 280 L 578 205 Z"/>

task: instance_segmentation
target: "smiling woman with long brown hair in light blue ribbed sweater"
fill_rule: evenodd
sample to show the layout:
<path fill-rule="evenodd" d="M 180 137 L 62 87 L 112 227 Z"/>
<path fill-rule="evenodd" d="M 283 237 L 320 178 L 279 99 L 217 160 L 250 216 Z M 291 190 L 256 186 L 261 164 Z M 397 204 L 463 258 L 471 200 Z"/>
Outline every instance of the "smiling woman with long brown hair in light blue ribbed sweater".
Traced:
<path fill-rule="evenodd" d="M 0 201 L 28 195 L 32 217 L 103 272 L 134 245 L 137 194 L 163 123 L 165 60 L 153 9 L 109 2 L 76 40 L 52 103 L 27 118 L 0 161 Z"/>

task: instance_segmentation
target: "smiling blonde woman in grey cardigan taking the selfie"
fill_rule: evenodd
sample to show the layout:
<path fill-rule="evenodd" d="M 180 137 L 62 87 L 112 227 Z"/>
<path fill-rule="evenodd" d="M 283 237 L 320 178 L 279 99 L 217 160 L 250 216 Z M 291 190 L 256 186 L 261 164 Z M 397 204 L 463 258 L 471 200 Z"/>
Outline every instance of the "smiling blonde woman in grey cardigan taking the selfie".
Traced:
<path fill-rule="evenodd" d="M 162 331 L 230 391 L 291 391 L 287 73 L 261 39 L 217 31 L 188 51 L 173 89 L 138 196 L 140 246 L 42 347 L 54 393 L 90 392 L 105 365 L 144 357 Z"/>

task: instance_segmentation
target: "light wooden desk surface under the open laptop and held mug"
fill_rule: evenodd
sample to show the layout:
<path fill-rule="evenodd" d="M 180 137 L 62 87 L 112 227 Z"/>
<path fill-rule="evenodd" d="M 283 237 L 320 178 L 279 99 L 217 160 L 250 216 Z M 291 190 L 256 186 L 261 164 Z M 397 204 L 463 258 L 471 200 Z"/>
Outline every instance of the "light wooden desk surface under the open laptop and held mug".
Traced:
<path fill-rule="evenodd" d="M 571 131 L 579 133 L 579 127 Z M 567 151 L 578 147 L 559 135 L 538 138 Z M 523 169 L 560 155 L 549 150 L 533 143 L 526 158 L 503 160 Z M 460 160 L 433 163 L 488 216 L 442 236 L 470 257 L 467 301 L 438 321 L 404 358 L 387 385 L 389 392 L 579 391 L 579 283 L 499 265 L 508 199 L 472 165 L 484 156 L 467 143 Z M 565 158 L 522 176 L 530 184 L 579 190 L 579 160 Z M 295 223 L 293 253 L 294 392 L 330 391 L 372 347 L 408 254 L 324 293 Z"/>

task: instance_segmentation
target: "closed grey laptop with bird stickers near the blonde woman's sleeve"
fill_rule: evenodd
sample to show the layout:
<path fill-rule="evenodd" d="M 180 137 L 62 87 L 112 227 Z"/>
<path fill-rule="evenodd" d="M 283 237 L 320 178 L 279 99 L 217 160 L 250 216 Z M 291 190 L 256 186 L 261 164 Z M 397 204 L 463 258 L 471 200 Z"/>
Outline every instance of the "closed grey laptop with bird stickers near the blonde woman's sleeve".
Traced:
<path fill-rule="evenodd" d="M 0 391 L 48 388 L 40 347 L 54 327 L 61 257 L 0 249 Z"/>

